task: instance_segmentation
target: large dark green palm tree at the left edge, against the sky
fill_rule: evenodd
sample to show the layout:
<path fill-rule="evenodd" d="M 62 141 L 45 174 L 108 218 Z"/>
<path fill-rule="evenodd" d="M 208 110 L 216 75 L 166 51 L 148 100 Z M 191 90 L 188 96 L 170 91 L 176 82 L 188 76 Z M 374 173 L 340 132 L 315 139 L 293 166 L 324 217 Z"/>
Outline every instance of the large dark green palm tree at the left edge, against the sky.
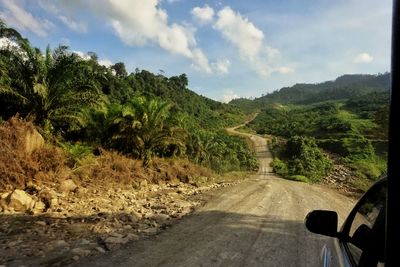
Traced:
<path fill-rule="evenodd" d="M 0 48 L 0 96 L 23 116 L 32 115 L 42 127 L 68 127 L 83 106 L 102 101 L 89 65 L 66 46 L 43 55 L 27 39 L 0 24 L 0 38 L 15 45 Z"/>

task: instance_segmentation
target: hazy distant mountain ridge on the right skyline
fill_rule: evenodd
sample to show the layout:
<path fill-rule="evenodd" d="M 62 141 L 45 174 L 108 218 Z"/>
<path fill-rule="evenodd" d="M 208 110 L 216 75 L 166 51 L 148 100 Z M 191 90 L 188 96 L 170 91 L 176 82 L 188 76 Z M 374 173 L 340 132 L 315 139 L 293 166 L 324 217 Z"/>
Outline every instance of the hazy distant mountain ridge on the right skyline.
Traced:
<path fill-rule="evenodd" d="M 254 100 L 234 99 L 230 104 L 250 111 L 267 103 L 312 104 L 328 100 L 346 100 L 374 92 L 389 93 L 389 89 L 390 73 L 346 74 L 333 81 L 316 84 L 300 83 L 283 87 Z"/>

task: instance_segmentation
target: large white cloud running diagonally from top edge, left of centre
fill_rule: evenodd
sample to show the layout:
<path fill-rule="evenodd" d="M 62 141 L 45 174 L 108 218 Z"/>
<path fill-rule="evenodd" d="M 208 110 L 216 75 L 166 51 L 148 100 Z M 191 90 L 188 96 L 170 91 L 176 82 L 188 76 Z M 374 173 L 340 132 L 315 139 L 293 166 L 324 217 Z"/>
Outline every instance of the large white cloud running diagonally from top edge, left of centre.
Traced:
<path fill-rule="evenodd" d="M 184 56 L 197 69 L 211 73 L 208 59 L 197 47 L 194 29 L 168 23 L 161 0 L 77 0 L 77 8 L 86 8 L 108 21 L 115 34 L 129 46 L 156 44 L 166 51 Z M 66 2 L 66 0 L 64 0 Z"/>

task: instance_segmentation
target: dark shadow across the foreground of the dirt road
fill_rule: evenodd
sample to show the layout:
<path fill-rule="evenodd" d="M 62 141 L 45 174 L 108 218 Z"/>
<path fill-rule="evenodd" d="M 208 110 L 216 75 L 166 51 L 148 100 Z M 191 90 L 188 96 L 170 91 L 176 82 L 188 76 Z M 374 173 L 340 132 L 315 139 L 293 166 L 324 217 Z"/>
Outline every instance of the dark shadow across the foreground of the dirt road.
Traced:
<path fill-rule="evenodd" d="M 325 242 L 302 221 L 209 211 L 74 266 L 318 266 Z"/>

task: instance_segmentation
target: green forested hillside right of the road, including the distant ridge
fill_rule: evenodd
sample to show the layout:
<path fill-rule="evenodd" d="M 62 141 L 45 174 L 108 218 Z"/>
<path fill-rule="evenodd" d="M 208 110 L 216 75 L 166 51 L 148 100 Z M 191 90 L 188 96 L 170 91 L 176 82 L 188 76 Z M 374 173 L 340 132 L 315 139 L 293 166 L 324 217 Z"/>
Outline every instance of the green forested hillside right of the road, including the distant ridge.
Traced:
<path fill-rule="evenodd" d="M 345 75 L 231 103 L 260 110 L 246 130 L 273 136 L 275 172 L 318 182 L 343 164 L 353 171 L 353 186 L 365 190 L 387 168 L 389 84 L 388 73 Z"/>

